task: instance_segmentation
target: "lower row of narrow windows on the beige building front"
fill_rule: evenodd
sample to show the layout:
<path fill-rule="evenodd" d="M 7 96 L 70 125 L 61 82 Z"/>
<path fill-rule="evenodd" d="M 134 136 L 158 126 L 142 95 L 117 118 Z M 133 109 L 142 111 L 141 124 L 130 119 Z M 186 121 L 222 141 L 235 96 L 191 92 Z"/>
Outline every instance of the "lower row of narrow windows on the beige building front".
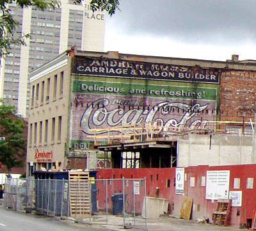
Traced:
<path fill-rule="evenodd" d="M 62 116 L 36 123 L 29 123 L 28 144 L 31 147 L 61 142 Z"/>

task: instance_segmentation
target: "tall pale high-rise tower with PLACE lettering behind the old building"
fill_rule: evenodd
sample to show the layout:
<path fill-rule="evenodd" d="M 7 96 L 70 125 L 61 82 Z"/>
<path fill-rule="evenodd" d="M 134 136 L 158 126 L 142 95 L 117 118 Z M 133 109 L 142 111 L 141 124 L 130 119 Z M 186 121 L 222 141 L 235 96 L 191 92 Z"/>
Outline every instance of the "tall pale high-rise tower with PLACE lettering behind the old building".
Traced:
<path fill-rule="evenodd" d="M 60 8 L 46 10 L 10 5 L 20 22 L 20 33 L 30 33 L 27 46 L 12 45 L 12 53 L 1 60 L 0 98 L 10 100 L 26 116 L 29 102 L 28 72 L 76 45 L 77 49 L 103 51 L 105 15 L 92 12 L 89 1 L 81 5 L 61 0 Z"/>

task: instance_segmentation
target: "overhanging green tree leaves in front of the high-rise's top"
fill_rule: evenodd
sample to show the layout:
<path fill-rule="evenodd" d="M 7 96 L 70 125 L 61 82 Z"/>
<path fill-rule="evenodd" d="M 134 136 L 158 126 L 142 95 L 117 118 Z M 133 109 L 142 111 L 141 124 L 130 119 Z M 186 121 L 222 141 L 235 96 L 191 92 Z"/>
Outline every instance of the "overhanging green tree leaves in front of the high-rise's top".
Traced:
<path fill-rule="evenodd" d="M 74 0 L 74 3 L 81 3 L 82 0 Z M 8 7 L 15 3 L 21 8 L 35 6 L 38 10 L 47 8 L 56 8 L 60 6 L 59 0 L 0 0 L 0 58 L 10 53 L 10 45 L 26 45 L 26 38 L 29 34 L 20 34 L 16 31 L 19 28 L 19 22 L 14 19 L 13 12 Z M 91 0 L 91 8 L 95 10 L 105 10 L 109 15 L 113 15 L 116 9 L 119 9 L 119 0 Z"/>

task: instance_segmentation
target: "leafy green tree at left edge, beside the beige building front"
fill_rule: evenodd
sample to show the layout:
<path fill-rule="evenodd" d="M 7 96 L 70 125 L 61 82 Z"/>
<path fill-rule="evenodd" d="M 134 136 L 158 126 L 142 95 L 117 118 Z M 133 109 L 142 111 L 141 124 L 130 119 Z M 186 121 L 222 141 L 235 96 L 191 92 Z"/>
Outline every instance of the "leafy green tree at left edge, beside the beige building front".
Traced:
<path fill-rule="evenodd" d="M 24 165 L 26 122 L 16 115 L 15 106 L 0 100 L 0 165 L 7 170 Z"/>

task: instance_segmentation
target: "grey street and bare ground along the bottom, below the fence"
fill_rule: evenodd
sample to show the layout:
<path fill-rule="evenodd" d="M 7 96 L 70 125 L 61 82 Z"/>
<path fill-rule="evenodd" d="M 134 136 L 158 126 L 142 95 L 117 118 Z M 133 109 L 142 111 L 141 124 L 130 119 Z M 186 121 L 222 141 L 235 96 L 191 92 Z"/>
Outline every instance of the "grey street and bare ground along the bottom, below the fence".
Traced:
<path fill-rule="evenodd" d="M 113 216 L 116 219 L 116 217 Z M 111 216 L 109 217 L 109 223 L 111 223 Z M 120 217 L 120 219 L 123 219 Z M 131 228 L 129 230 L 140 230 L 138 228 L 145 228 L 145 224 L 137 224 L 137 229 Z M 179 218 L 160 218 L 152 221 L 148 220 L 148 231 L 241 231 L 243 229 L 238 227 L 219 227 L 212 224 L 198 224 L 196 221 L 179 219 Z M 87 225 L 82 223 L 74 223 L 70 220 L 61 220 L 59 218 L 51 218 L 47 216 L 40 216 L 36 214 L 30 214 L 20 211 L 13 211 L 11 209 L 5 209 L 0 205 L 0 230 L 3 231 L 101 231 L 101 230 L 126 230 L 122 226 L 117 225 Z M 244 229 L 245 230 L 245 229 Z"/>

